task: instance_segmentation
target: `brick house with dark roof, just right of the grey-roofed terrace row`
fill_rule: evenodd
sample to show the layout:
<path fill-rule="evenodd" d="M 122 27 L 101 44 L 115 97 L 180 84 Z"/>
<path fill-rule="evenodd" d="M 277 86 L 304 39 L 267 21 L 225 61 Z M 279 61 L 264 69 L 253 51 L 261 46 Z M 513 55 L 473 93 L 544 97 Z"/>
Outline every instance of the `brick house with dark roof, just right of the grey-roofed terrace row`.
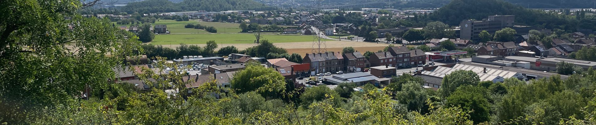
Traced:
<path fill-rule="evenodd" d="M 344 63 L 346 63 L 347 72 L 360 72 L 368 67 L 368 60 L 360 52 L 343 54 Z"/>

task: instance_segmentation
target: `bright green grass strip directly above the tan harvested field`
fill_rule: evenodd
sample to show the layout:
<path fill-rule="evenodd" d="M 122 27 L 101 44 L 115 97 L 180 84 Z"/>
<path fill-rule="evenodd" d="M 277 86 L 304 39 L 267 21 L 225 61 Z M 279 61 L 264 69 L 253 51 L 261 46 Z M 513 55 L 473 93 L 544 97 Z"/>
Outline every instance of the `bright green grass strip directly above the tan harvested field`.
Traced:
<path fill-rule="evenodd" d="M 290 36 L 290 35 L 262 35 L 262 40 L 269 40 L 272 43 L 291 43 L 312 41 L 313 36 Z M 151 44 L 206 44 L 209 40 L 215 40 L 222 44 L 254 43 L 253 34 L 160 34 L 156 35 Z"/>

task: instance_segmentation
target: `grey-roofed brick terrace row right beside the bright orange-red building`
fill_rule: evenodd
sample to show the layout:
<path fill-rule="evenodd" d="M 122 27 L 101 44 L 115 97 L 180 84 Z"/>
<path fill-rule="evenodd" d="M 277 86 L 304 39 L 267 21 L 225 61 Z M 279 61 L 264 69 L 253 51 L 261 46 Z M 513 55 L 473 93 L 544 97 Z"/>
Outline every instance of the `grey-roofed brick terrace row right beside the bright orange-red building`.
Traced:
<path fill-rule="evenodd" d="M 339 55 L 339 52 L 337 53 Z M 341 57 L 341 56 L 340 56 Z M 342 70 L 343 57 L 337 57 L 335 53 L 306 53 L 302 63 L 311 63 L 311 75 L 316 73 L 337 72 Z"/>

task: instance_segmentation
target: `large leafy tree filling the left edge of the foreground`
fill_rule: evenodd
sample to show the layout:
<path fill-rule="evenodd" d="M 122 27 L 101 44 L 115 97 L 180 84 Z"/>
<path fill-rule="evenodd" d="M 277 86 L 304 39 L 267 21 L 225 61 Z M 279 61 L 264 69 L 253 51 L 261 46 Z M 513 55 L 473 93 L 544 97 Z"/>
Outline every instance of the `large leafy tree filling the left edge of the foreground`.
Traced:
<path fill-rule="evenodd" d="M 35 124 L 49 114 L 72 113 L 76 108 L 67 105 L 82 102 L 78 97 L 85 88 L 94 89 L 84 94 L 95 100 L 116 87 L 107 81 L 114 79 L 112 69 L 122 69 L 122 60 L 142 53 L 141 42 L 110 20 L 77 13 L 92 5 L 76 0 L 0 2 L 0 123 Z"/>

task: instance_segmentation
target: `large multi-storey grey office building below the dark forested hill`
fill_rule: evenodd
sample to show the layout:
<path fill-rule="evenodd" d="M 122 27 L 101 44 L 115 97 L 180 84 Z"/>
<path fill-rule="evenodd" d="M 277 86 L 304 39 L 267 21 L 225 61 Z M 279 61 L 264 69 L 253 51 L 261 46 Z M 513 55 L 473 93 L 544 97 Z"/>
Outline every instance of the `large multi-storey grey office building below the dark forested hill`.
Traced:
<path fill-rule="evenodd" d="M 481 21 L 464 20 L 460 23 L 460 38 L 463 40 L 480 40 L 478 34 L 483 30 L 495 34 L 496 31 L 505 27 L 513 27 L 515 15 L 493 15 Z"/>

